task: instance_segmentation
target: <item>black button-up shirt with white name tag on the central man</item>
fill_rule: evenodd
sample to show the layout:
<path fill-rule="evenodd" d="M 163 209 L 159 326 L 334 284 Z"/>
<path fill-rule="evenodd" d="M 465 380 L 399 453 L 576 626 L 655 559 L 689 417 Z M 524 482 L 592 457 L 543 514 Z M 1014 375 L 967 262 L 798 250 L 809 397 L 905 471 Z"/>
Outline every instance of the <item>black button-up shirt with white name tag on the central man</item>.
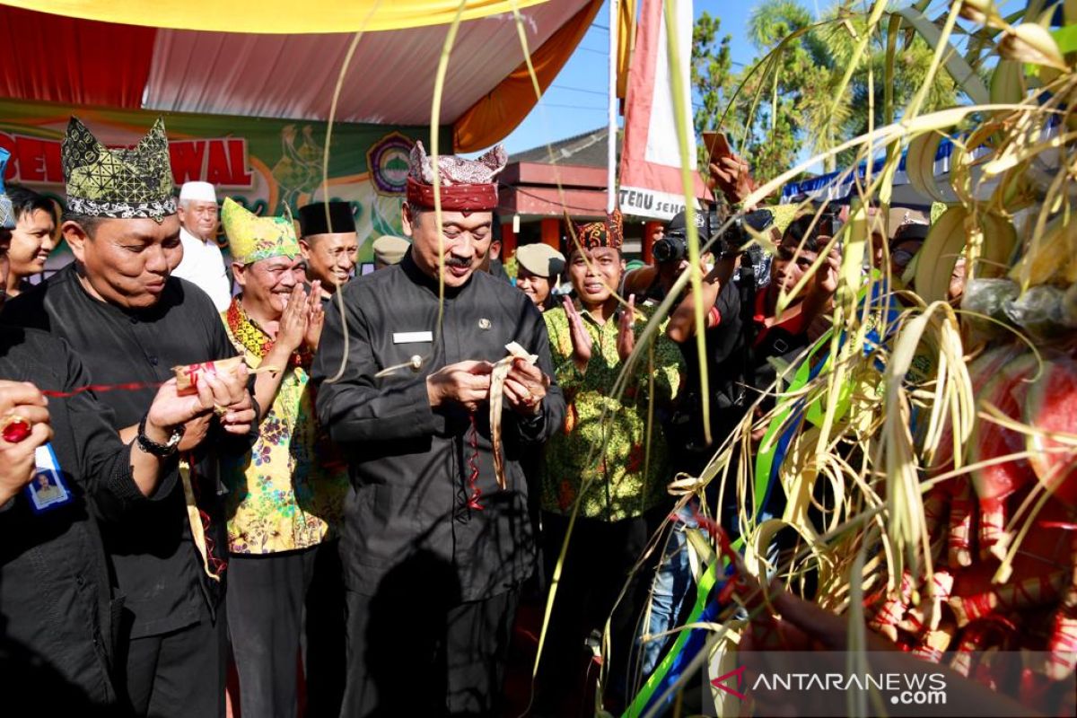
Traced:
<path fill-rule="evenodd" d="M 553 377 L 542 314 L 522 292 L 477 271 L 464 286 L 446 287 L 438 333 L 437 282 L 410 253 L 340 291 L 347 350 L 334 302 L 311 378 L 320 384 L 318 417 L 349 459 L 352 490 L 340 547 L 348 588 L 376 595 L 390 590 L 391 580 L 424 571 L 430 589 L 449 600 L 508 590 L 531 574 L 534 559 L 519 462 L 528 446 L 561 426 L 564 397 L 550 386 L 536 420 L 505 410 L 507 490 L 501 491 L 488 406 L 474 414 L 473 432 L 472 414 L 459 405 L 431 408 L 426 377 L 457 362 L 496 362 L 510 341 L 537 354 L 540 368 Z M 408 365 L 412 357 L 418 368 Z M 341 360 L 344 372 L 331 381 Z M 390 367 L 398 368 L 376 376 Z M 481 509 L 468 508 L 475 489 Z"/>

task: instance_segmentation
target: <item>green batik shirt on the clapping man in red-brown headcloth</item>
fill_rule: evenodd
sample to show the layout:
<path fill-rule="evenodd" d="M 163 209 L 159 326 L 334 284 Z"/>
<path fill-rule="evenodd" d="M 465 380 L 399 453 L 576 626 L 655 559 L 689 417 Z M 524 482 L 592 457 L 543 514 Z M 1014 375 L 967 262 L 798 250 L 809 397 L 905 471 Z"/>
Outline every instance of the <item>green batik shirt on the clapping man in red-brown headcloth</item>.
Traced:
<path fill-rule="evenodd" d="M 637 311 L 649 319 L 654 310 L 637 307 Z M 669 452 L 659 419 L 676 394 L 684 360 L 680 348 L 667 338 L 662 322 L 657 340 L 641 354 L 624 395 L 617 398 L 612 395 L 613 385 L 624 366 L 617 354 L 617 318 L 599 324 L 584 309 L 579 309 L 579 315 L 593 341 L 584 374 L 572 361 L 572 336 L 564 308 L 557 307 L 543 314 L 557 383 L 564 392 L 568 411 L 562 431 L 546 445 L 542 507 L 570 515 L 584 483 L 588 482 L 579 506 L 581 516 L 603 521 L 630 519 L 669 495 L 666 490 L 671 479 Z M 637 336 L 642 325 L 637 320 Z M 648 427 L 652 391 L 655 402 Z"/>

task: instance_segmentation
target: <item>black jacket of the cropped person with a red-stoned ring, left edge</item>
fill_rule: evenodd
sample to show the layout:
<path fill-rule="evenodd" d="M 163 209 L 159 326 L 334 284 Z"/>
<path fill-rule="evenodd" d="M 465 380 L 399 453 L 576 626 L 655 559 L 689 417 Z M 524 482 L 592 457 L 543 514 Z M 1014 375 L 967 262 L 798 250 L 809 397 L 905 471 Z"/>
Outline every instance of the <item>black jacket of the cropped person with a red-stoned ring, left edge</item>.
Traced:
<path fill-rule="evenodd" d="M 0 379 L 61 392 L 89 384 L 65 342 L 8 326 L 0 326 Z M 39 713 L 115 700 L 109 675 L 122 599 L 110 593 L 97 521 L 153 504 L 131 478 L 130 447 L 112 428 L 112 412 L 93 393 L 52 397 L 48 413 L 73 501 L 34 513 L 19 492 L 0 509 L 0 687 Z M 176 483 L 172 462 L 155 496 Z"/>

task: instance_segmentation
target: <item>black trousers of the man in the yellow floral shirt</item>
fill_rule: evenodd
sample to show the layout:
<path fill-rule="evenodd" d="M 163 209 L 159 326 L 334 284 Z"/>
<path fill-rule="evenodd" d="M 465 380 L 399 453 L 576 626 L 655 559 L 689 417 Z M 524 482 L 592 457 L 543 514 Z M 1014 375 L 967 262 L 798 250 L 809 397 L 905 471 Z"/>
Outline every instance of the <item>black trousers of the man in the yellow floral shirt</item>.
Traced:
<path fill-rule="evenodd" d="M 233 554 L 228 628 L 242 715 L 298 715 L 302 657 L 306 715 L 336 718 L 344 692 L 344 615 L 336 541 L 284 553 Z"/>

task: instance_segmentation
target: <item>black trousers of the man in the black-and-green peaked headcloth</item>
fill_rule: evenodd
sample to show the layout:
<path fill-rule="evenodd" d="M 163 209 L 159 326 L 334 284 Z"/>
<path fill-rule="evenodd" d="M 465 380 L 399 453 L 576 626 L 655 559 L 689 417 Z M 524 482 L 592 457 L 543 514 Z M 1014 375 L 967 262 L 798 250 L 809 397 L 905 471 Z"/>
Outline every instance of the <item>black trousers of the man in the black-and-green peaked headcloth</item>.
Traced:
<path fill-rule="evenodd" d="M 126 670 L 131 712 L 151 718 L 224 718 L 227 631 L 224 607 L 214 621 L 202 604 L 194 625 L 122 645 L 117 659 Z"/>

